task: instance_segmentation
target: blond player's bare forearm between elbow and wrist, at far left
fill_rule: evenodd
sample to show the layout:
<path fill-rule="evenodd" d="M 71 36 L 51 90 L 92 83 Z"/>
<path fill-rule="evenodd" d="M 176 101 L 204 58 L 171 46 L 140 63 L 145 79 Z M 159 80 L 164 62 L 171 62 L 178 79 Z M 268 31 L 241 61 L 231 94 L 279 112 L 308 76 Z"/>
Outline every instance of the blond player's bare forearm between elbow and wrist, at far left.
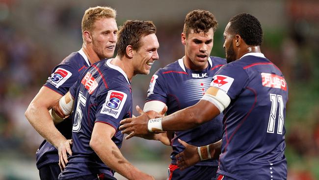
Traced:
<path fill-rule="evenodd" d="M 54 126 L 47 108 L 31 103 L 26 111 L 26 117 L 33 128 L 56 148 L 62 141 L 66 140 Z"/>

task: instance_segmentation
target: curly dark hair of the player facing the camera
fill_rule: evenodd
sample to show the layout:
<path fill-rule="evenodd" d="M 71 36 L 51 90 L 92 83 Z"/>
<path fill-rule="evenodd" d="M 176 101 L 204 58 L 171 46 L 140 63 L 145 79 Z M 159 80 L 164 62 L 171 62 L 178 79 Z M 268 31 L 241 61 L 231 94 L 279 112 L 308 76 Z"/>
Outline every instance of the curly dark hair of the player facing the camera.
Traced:
<path fill-rule="evenodd" d="M 187 37 L 190 30 L 194 30 L 195 33 L 199 33 L 201 31 L 206 33 L 213 28 L 213 31 L 215 31 L 217 25 L 217 20 L 211 12 L 197 9 L 190 11 L 186 15 L 184 33 Z"/>

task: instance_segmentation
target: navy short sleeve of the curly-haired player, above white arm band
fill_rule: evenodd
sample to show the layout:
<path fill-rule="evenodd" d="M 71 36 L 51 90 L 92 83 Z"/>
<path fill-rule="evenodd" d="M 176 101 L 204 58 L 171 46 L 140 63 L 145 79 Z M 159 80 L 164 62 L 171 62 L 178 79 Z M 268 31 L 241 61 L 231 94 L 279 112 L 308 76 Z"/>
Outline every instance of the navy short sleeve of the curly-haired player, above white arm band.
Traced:
<path fill-rule="evenodd" d="M 151 79 L 150 86 L 147 90 L 146 102 L 158 100 L 166 104 L 167 92 L 166 92 L 166 82 L 158 70 Z"/>

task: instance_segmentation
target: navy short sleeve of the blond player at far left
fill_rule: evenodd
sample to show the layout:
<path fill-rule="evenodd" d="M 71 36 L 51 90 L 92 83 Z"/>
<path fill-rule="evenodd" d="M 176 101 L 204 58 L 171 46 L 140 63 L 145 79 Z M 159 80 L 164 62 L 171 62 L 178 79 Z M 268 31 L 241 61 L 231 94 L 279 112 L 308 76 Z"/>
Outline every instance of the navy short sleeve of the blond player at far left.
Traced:
<path fill-rule="evenodd" d="M 80 73 L 69 64 L 56 66 L 44 86 L 59 94 L 66 94 L 69 88 L 78 80 Z"/>

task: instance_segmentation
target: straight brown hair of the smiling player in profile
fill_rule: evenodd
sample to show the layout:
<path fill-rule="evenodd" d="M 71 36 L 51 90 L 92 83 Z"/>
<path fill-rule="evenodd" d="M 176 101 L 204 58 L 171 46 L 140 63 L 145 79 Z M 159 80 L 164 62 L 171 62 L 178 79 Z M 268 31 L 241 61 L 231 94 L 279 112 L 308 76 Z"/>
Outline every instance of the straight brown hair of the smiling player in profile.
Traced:
<path fill-rule="evenodd" d="M 156 33 L 156 27 L 152 21 L 126 21 L 117 36 L 117 55 L 122 58 L 126 55 L 126 47 L 131 45 L 133 50 L 138 50 L 141 46 L 140 39 L 146 35 Z"/>

